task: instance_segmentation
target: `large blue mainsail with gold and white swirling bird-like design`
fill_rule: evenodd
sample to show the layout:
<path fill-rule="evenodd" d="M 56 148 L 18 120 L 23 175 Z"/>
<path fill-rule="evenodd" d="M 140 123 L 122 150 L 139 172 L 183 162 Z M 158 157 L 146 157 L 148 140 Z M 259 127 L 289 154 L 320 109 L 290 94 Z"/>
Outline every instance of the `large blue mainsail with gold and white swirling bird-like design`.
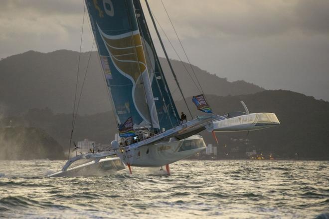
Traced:
<path fill-rule="evenodd" d="M 119 124 L 160 129 L 132 0 L 86 0 Z"/>

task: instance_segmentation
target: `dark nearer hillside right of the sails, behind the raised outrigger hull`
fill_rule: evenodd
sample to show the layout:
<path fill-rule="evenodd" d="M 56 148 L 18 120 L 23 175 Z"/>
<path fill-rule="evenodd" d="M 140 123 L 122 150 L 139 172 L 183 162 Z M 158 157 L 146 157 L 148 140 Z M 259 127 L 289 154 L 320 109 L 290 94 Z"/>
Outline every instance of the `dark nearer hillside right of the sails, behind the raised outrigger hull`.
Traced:
<path fill-rule="evenodd" d="M 232 111 L 244 111 L 243 100 L 250 112 L 274 112 L 281 125 L 269 129 L 250 132 L 217 133 L 220 152 L 232 152 L 231 149 L 245 147 L 234 139 L 248 139 L 257 151 L 274 153 L 284 158 L 329 159 L 329 102 L 316 100 L 304 94 L 268 90 L 251 95 L 219 97 L 208 95 L 207 99 L 216 114 L 223 115 Z M 201 115 L 187 101 L 194 115 Z M 182 109 L 183 103 L 177 107 Z M 205 131 L 202 133 L 207 143 L 216 145 L 214 139 Z M 224 148 L 224 145 L 227 148 Z M 232 154 L 232 153 L 231 153 Z M 238 156 L 239 157 L 239 156 Z"/>

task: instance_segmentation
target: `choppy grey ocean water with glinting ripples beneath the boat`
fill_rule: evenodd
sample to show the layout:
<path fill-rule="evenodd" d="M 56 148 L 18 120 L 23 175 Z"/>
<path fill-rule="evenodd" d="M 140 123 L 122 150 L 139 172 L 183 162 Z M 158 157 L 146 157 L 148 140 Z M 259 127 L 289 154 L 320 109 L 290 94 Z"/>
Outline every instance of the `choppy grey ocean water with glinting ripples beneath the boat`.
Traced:
<path fill-rule="evenodd" d="M 0 218 L 329 218 L 328 161 L 179 161 L 47 178 L 65 161 L 0 161 Z"/>

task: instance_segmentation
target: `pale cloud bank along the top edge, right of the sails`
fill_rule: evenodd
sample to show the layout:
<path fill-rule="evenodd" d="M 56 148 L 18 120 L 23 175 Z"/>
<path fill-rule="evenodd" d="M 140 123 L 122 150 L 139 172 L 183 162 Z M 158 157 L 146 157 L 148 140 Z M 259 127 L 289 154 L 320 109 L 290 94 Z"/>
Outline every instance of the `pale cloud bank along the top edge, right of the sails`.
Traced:
<path fill-rule="evenodd" d="M 329 1 L 309 0 L 164 0 L 184 38 L 268 37 L 289 31 L 328 34 Z M 170 31 L 164 8 L 152 2 L 153 12 Z"/>

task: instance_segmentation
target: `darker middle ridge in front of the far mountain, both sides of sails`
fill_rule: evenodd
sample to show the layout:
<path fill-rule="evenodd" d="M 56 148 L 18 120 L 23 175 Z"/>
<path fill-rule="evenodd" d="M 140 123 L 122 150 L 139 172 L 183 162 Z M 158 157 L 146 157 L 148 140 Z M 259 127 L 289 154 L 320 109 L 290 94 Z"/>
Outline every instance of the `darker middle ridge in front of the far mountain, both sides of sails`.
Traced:
<path fill-rule="evenodd" d="M 192 114 L 202 115 L 191 98 L 187 99 Z M 281 122 L 278 127 L 250 132 L 248 136 L 246 132 L 217 133 L 219 158 L 226 153 L 229 154 L 228 158 L 244 158 L 246 151 L 255 149 L 259 153 L 274 154 L 277 158 L 295 158 L 298 153 L 303 159 L 329 159 L 329 102 L 285 90 L 226 97 L 207 95 L 207 99 L 213 111 L 219 115 L 243 111 L 239 102 L 243 100 L 250 112 L 275 112 Z M 187 114 L 182 101 L 177 102 L 177 109 Z M 33 109 L 22 117 L 7 118 L 6 123 L 11 119 L 15 125 L 41 127 L 67 149 L 71 116 L 54 114 L 50 109 Z M 79 116 L 73 140 L 88 138 L 97 143 L 109 144 L 117 131 L 113 124 L 112 112 Z M 206 131 L 201 134 L 207 144 L 216 145 L 211 134 Z"/>

